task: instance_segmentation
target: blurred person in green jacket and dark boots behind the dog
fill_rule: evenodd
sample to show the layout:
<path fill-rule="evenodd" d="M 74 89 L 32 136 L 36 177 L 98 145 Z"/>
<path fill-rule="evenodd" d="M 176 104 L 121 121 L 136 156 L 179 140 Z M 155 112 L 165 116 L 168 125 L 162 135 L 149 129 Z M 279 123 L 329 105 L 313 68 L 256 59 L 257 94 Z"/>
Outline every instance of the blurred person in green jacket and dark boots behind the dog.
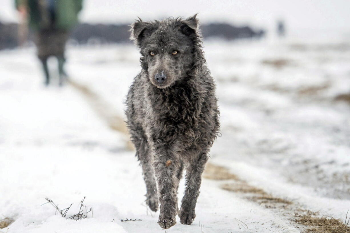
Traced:
<path fill-rule="evenodd" d="M 64 49 L 69 31 L 78 22 L 82 0 L 15 0 L 22 17 L 28 17 L 29 27 L 35 32 L 37 55 L 45 74 L 45 85 L 50 83 L 47 60 L 58 61 L 59 85 L 67 75 L 64 71 Z"/>

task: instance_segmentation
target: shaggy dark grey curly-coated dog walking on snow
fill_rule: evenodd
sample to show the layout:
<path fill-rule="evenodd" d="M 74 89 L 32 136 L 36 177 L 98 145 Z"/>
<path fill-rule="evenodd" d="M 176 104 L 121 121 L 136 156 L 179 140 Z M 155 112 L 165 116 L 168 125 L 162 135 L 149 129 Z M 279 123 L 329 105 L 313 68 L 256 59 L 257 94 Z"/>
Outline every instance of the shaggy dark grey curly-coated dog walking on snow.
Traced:
<path fill-rule="evenodd" d="M 127 95 L 126 115 L 146 182 L 146 203 L 169 228 L 196 217 L 204 165 L 219 130 L 215 84 L 205 65 L 196 15 L 131 26 L 141 72 Z M 181 209 L 177 188 L 186 169 Z M 157 185 L 158 184 L 158 185 Z M 158 193 L 157 193 L 158 189 Z"/>

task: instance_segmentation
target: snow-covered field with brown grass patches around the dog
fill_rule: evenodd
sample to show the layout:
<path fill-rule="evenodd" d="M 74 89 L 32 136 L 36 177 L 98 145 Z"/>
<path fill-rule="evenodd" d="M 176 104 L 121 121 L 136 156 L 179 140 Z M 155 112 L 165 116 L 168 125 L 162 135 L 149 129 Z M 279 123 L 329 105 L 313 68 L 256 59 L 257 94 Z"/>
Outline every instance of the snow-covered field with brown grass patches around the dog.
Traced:
<path fill-rule="evenodd" d="M 350 209 L 350 43 L 205 41 L 217 84 L 222 137 L 190 226 L 162 230 L 145 205 L 145 185 L 123 117 L 140 70 L 133 45 L 69 47 L 72 85 L 45 88 L 34 48 L 0 52 L 0 220 L 3 233 L 296 233 L 315 212 L 344 222 Z M 52 61 L 51 65 L 54 65 Z M 54 81 L 55 82 L 55 81 Z M 214 164 L 214 165 L 213 165 Z M 223 167 L 218 167 L 223 166 Z M 184 184 L 179 189 L 182 198 Z M 45 197 L 87 218 L 55 214 Z M 180 203 L 179 203 L 180 204 Z M 349 217 L 349 215 L 348 215 Z M 126 221 L 140 219 L 142 221 Z M 341 231 L 339 231 L 341 232 Z"/>

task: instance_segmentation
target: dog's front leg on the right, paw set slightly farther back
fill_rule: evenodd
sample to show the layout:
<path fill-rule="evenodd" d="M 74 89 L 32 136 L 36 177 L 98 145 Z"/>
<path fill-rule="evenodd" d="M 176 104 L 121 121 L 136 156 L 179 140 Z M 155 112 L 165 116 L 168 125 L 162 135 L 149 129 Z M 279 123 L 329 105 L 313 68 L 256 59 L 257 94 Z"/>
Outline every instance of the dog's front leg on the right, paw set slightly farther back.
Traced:
<path fill-rule="evenodd" d="M 190 225 L 196 217 L 195 208 L 207 160 L 207 153 L 202 153 L 190 159 L 186 165 L 186 190 L 179 212 L 182 224 Z"/>

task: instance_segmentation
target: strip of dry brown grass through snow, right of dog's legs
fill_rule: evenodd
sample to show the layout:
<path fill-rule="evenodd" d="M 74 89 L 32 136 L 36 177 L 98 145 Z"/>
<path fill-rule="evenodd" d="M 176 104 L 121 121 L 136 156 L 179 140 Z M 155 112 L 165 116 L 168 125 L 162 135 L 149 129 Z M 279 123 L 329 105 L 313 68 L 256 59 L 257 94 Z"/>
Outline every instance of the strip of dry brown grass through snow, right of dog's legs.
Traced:
<path fill-rule="evenodd" d="M 270 210 L 276 216 L 276 224 L 281 224 L 283 232 L 320 232 L 320 233 L 349 233 L 350 227 L 339 219 L 330 216 L 320 216 L 319 213 L 303 209 L 300 204 L 267 193 L 256 188 L 238 176 L 229 172 L 229 169 L 208 163 L 203 178 L 221 182 L 220 188 L 238 193 L 241 198 L 259 204 Z M 289 225 L 289 227 L 288 227 Z"/>

